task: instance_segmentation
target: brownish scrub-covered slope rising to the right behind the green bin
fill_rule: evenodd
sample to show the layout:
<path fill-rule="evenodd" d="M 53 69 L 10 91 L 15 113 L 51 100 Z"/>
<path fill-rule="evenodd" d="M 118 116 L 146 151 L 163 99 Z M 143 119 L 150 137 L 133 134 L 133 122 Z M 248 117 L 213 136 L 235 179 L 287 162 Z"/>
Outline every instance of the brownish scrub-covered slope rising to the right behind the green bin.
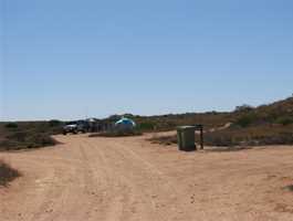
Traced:
<path fill-rule="evenodd" d="M 293 144 L 292 97 L 257 108 L 243 105 L 226 115 L 224 119 L 231 122 L 230 127 L 224 129 L 206 127 L 206 145 L 231 147 Z M 199 138 L 197 137 L 197 139 Z M 177 143 L 177 137 L 154 137 L 151 141 L 170 145 Z"/>

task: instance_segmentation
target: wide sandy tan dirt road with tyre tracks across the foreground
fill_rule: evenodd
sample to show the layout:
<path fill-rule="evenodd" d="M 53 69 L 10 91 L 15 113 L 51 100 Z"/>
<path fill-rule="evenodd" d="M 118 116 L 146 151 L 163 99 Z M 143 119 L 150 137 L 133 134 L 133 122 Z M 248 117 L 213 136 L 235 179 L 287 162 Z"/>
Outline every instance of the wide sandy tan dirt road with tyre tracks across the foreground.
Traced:
<path fill-rule="evenodd" d="M 0 220 L 293 220 L 292 147 L 179 152 L 145 138 L 1 152 L 23 177 L 0 188 Z"/>

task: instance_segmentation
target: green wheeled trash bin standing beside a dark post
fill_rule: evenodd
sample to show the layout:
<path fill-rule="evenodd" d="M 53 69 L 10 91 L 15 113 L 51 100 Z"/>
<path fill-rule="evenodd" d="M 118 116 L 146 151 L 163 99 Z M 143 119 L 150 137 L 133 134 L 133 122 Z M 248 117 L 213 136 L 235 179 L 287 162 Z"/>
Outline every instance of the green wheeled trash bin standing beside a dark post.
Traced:
<path fill-rule="evenodd" d="M 177 128 L 178 148 L 182 151 L 193 151 L 196 147 L 196 127 L 182 126 Z"/>

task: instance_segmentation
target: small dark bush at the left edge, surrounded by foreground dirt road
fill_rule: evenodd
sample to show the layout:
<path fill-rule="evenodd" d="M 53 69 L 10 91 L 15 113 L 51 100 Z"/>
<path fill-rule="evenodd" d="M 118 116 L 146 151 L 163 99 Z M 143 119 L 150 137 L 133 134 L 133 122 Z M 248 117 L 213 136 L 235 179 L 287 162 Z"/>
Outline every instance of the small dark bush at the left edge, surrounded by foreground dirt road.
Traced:
<path fill-rule="evenodd" d="M 0 160 L 0 187 L 7 187 L 10 181 L 20 177 L 21 173 Z"/>

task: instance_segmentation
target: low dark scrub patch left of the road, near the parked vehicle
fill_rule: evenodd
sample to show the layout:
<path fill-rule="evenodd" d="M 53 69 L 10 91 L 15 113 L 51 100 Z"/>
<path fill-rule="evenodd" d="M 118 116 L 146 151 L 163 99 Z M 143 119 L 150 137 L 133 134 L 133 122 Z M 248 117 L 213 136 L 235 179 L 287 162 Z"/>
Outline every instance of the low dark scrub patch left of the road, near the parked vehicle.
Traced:
<path fill-rule="evenodd" d="M 61 133 L 59 120 L 0 123 L 0 150 L 52 146 L 51 135 Z"/>

